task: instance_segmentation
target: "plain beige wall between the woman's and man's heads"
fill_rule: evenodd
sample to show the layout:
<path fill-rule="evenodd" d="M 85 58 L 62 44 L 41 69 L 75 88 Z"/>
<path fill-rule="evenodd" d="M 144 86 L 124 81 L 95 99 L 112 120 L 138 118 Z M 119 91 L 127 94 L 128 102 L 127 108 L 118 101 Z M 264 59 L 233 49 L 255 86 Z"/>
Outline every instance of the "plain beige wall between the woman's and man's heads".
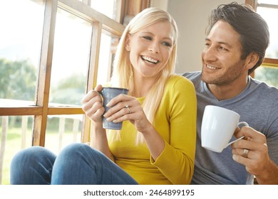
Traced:
<path fill-rule="evenodd" d="M 161 2 L 160 2 L 161 1 Z M 168 6 L 165 4 L 168 1 Z M 177 51 L 176 72 L 202 69 L 201 53 L 205 46 L 205 28 L 207 17 L 219 4 L 228 4 L 232 0 L 154 0 L 153 6 L 167 9 L 175 18 L 180 31 Z M 244 4 L 244 0 L 237 0 Z"/>

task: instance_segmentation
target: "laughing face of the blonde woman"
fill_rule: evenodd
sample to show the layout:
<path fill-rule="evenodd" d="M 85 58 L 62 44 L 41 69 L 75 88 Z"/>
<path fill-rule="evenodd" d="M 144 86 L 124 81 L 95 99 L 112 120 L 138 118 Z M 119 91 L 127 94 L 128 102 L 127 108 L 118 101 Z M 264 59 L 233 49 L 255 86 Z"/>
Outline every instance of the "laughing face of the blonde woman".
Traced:
<path fill-rule="evenodd" d="M 174 31 L 170 22 L 158 22 L 128 35 L 125 49 L 130 51 L 133 72 L 155 78 L 163 70 L 173 50 Z"/>

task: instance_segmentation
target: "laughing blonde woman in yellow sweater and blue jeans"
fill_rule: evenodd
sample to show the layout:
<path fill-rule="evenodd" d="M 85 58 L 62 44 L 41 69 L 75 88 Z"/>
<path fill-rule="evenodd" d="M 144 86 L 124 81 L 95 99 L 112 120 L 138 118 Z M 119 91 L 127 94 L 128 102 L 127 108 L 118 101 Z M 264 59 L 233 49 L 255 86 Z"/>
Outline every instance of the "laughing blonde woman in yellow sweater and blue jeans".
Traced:
<path fill-rule="evenodd" d="M 49 161 L 55 162 L 53 170 L 44 168 L 52 171 L 52 176 L 48 173 L 51 183 L 190 183 L 197 102 L 192 82 L 173 75 L 176 52 L 177 26 L 170 14 L 150 8 L 130 21 L 120 39 L 113 76 L 107 84 L 128 88 L 128 95 L 113 98 L 104 115 L 98 94 L 102 85 L 83 97 L 83 111 L 92 124 L 91 146 L 72 144 L 53 156 Z M 102 117 L 123 122 L 123 129 L 103 129 Z M 19 173 L 24 169 L 13 169 L 11 182 L 18 179 L 14 183 L 22 183 Z"/>

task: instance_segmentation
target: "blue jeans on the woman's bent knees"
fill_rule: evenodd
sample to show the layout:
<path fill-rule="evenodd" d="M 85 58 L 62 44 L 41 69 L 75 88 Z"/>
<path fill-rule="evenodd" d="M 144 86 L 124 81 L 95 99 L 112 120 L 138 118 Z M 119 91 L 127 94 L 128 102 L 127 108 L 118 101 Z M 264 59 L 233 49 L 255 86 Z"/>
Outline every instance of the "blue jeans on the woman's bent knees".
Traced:
<path fill-rule="evenodd" d="M 138 183 L 91 146 L 71 144 L 58 156 L 41 146 L 32 146 L 19 151 L 11 161 L 11 184 L 134 185 Z"/>

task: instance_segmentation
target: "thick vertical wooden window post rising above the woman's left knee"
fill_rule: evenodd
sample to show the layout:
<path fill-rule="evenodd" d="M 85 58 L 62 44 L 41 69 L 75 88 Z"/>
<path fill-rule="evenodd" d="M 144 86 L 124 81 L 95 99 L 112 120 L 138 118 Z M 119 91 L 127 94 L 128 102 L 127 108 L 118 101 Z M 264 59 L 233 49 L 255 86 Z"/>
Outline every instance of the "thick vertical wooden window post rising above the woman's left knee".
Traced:
<path fill-rule="evenodd" d="M 45 142 L 57 0 L 46 0 L 45 9 L 43 38 L 41 44 L 41 60 L 38 70 L 38 82 L 35 99 L 36 106 L 42 107 L 42 114 L 35 115 L 34 117 L 32 141 L 34 146 L 44 146 Z"/>

